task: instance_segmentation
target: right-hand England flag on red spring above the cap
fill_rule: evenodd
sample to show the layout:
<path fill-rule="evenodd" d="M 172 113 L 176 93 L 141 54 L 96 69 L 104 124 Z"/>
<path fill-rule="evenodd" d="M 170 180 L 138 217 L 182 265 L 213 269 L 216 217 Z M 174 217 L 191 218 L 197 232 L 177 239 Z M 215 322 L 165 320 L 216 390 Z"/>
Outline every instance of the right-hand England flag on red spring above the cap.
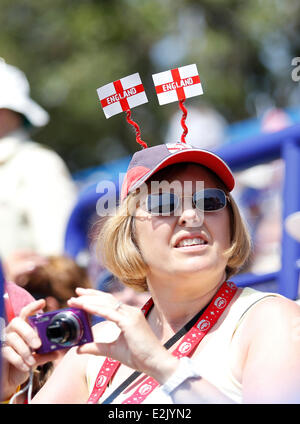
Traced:
<path fill-rule="evenodd" d="M 160 105 L 203 94 L 197 66 L 187 65 L 152 75 Z"/>

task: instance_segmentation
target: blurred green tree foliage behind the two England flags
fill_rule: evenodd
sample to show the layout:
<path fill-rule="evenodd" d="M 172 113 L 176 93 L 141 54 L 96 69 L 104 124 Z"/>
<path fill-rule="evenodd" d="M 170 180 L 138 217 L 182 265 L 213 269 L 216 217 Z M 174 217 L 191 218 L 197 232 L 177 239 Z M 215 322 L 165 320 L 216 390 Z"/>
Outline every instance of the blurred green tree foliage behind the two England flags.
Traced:
<path fill-rule="evenodd" d="M 158 106 L 151 75 L 197 63 L 208 104 L 229 122 L 287 107 L 297 84 L 300 5 L 282 0 L 1 0 L 0 56 L 21 68 L 51 116 L 35 139 L 72 171 L 136 150 L 123 114 L 106 120 L 96 89 L 139 72 L 149 103 L 133 110 L 149 145 L 176 104 Z M 299 93 L 299 91 L 298 91 Z"/>

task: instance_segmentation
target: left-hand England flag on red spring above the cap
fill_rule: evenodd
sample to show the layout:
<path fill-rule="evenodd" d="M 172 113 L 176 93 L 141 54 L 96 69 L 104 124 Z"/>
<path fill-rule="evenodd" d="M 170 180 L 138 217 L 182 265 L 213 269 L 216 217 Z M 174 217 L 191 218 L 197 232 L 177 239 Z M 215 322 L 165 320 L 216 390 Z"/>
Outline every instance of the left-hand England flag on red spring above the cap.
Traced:
<path fill-rule="evenodd" d="M 148 102 L 139 73 L 106 84 L 97 93 L 106 118 Z"/>

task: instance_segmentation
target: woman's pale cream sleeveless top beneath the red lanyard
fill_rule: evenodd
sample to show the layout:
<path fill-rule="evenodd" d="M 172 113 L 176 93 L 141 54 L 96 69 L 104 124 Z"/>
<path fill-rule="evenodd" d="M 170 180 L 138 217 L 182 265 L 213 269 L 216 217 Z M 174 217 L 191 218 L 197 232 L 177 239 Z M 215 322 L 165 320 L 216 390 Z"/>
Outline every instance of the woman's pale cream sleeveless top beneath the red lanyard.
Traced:
<path fill-rule="evenodd" d="M 280 296 L 276 293 L 264 293 L 251 288 L 245 288 L 239 297 L 230 307 L 228 314 L 220 327 L 210 334 L 208 343 L 205 343 L 203 349 L 192 359 L 197 362 L 200 375 L 209 383 L 217 387 L 224 395 L 232 399 L 234 402 L 242 403 L 242 385 L 233 376 L 231 371 L 231 350 L 230 343 L 232 337 L 246 316 L 249 309 L 258 301 L 269 297 Z M 98 372 L 104 362 L 104 357 L 91 355 L 87 363 L 86 379 L 89 394 L 92 392 Z M 99 403 L 105 400 L 118 385 L 114 384 L 114 380 L 107 387 L 102 395 Z M 130 390 L 125 390 L 126 394 L 121 393 L 117 396 L 113 404 L 121 404 L 136 389 L 136 386 Z M 166 395 L 160 388 L 156 388 L 144 400 L 143 403 L 148 404 L 170 404 L 173 403 L 170 396 Z"/>

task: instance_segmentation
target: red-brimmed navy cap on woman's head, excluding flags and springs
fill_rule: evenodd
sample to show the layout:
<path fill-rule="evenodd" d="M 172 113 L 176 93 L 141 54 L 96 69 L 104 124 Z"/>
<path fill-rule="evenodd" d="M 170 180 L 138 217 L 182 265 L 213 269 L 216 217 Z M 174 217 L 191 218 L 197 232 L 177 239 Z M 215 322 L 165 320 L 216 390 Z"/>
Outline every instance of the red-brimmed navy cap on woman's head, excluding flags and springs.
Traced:
<path fill-rule="evenodd" d="M 228 165 L 215 153 L 198 149 L 187 143 L 160 144 L 140 150 L 133 155 L 122 185 L 122 200 L 156 172 L 168 165 L 181 162 L 205 166 L 223 181 L 228 191 L 233 190 L 233 174 Z"/>

